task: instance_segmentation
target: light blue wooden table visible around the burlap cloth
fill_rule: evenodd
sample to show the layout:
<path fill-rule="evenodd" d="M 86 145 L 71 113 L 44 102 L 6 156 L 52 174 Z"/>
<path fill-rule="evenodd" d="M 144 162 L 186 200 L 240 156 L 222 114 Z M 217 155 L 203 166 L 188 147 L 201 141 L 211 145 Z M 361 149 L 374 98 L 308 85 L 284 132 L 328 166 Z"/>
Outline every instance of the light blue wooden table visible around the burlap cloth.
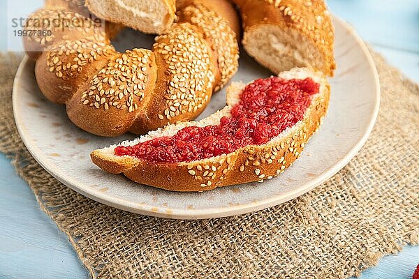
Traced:
<path fill-rule="evenodd" d="M 5 18 L 4 1 L 0 17 Z M 19 1 L 8 1 L 9 7 Z M 26 1 L 34 10 L 41 1 Z M 419 82 L 418 0 L 329 0 L 330 9 L 411 80 Z M 3 6 L 2 6 L 3 5 Z M 7 18 L 7 17 L 6 17 Z M 0 38 L 5 32 L 0 22 Z M 0 49 L 5 47 L 1 40 Z M 3 48 L 4 50 L 4 48 Z M 362 278 L 411 278 L 419 246 L 383 257 Z M 39 209 L 27 184 L 0 154 L 0 278 L 89 278 L 66 235 Z"/>

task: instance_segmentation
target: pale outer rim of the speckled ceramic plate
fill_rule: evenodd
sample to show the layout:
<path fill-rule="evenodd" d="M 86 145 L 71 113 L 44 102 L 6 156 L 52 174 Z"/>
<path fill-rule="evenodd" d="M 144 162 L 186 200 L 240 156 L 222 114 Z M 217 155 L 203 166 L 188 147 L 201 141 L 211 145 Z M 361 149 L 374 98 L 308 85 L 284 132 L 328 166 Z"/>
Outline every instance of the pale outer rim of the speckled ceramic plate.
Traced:
<path fill-rule="evenodd" d="M 147 205 L 139 207 L 138 204 L 135 204 L 134 202 L 127 201 L 126 199 L 120 199 L 119 197 L 112 197 L 110 195 L 105 195 L 105 193 L 98 193 L 98 191 L 86 191 L 84 189 L 89 189 L 89 187 L 81 188 L 78 186 L 78 183 L 74 183 L 72 181 L 73 179 L 70 177 L 66 177 L 65 174 L 57 174 L 54 172 L 54 167 L 50 166 L 48 162 L 43 162 L 41 160 L 41 156 L 38 156 L 37 154 L 39 152 L 42 152 L 38 149 L 36 145 L 30 144 L 30 140 L 28 137 L 25 137 L 24 132 L 24 126 L 22 125 L 22 121 L 20 121 L 20 116 L 17 114 L 17 111 L 19 110 L 19 105 L 17 105 L 16 101 L 16 94 L 17 94 L 17 77 L 20 77 L 22 75 L 22 72 L 24 70 L 24 66 L 29 61 L 28 56 L 24 56 L 24 59 L 22 59 L 22 62 L 20 63 L 19 68 L 17 69 L 17 73 L 15 75 L 15 80 L 13 82 L 13 97 L 12 97 L 12 103 L 13 103 L 13 116 L 15 118 L 15 123 L 17 126 L 17 131 L 20 134 L 20 137 L 22 138 L 22 142 L 28 149 L 29 153 L 31 153 L 31 156 L 34 157 L 36 162 L 38 162 L 41 167 L 43 167 L 48 173 L 50 173 L 52 176 L 54 176 L 55 179 L 63 183 L 65 186 L 75 190 L 76 192 L 80 193 L 81 195 L 84 195 L 85 197 L 88 197 L 89 199 L 93 199 L 96 202 L 100 202 L 102 204 L 106 204 L 108 206 L 115 207 L 117 209 L 122 209 L 124 211 L 130 211 L 133 213 L 138 213 L 146 216 L 154 216 L 159 218 L 171 218 L 171 219 L 182 219 L 182 220 L 196 220 L 196 219 L 207 219 L 207 218 L 222 218 L 227 216 L 236 216 L 236 215 L 242 215 L 245 213 L 251 213 L 254 211 L 260 211 L 262 209 L 269 208 L 271 206 L 276 206 L 279 204 L 282 204 L 284 202 L 288 202 L 291 199 L 295 199 L 296 197 L 299 197 L 300 195 L 304 195 L 305 193 L 309 192 L 310 190 L 313 190 L 317 186 L 319 186 L 324 181 L 327 181 L 332 176 L 337 174 L 343 167 L 345 167 L 351 159 L 360 151 L 362 146 L 364 146 L 365 142 L 367 142 L 369 135 L 372 132 L 372 129 L 374 128 L 374 124 L 376 122 L 376 118 L 378 116 L 378 110 L 380 107 L 381 102 L 381 86 L 379 83 L 379 77 L 378 72 L 376 70 L 376 65 L 374 63 L 374 60 L 372 59 L 371 54 L 369 53 L 369 50 L 367 48 L 367 45 L 365 45 L 364 41 L 360 38 L 358 33 L 351 27 L 350 24 L 348 24 L 346 21 L 341 20 L 341 18 L 333 15 L 333 20 L 336 22 L 339 22 L 351 35 L 353 38 L 355 38 L 356 42 L 360 46 L 360 49 L 367 57 L 367 63 L 369 64 L 369 68 L 372 70 L 372 74 L 374 75 L 374 85 L 376 87 L 375 91 L 375 97 L 376 97 L 376 103 L 374 104 L 374 111 L 370 116 L 369 123 L 367 126 L 367 130 L 360 137 L 358 142 L 346 153 L 346 155 L 341 158 L 340 160 L 335 163 L 330 169 L 326 170 L 322 174 L 318 175 L 315 179 L 302 184 L 302 186 L 295 188 L 293 190 L 290 190 L 286 193 L 286 195 L 273 195 L 272 197 L 268 197 L 267 199 L 261 199 L 257 202 L 247 202 L 246 204 L 238 204 L 234 206 L 221 206 L 216 208 L 210 208 L 210 209 L 168 209 L 166 207 L 159 207 L 159 206 L 149 206 L 149 209 L 147 208 Z M 168 213 L 170 211 L 170 213 Z"/>

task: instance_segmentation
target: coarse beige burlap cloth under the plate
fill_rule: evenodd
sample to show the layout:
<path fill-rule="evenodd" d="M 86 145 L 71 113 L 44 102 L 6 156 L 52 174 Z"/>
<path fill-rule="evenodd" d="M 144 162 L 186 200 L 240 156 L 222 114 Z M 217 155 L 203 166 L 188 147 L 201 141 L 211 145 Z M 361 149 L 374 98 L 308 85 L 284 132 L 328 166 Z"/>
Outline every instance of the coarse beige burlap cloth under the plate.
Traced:
<path fill-rule="evenodd" d="M 351 163 L 291 202 L 188 221 L 99 204 L 38 165 L 13 121 L 20 58 L 0 56 L 0 151 L 68 235 L 92 278 L 347 278 L 419 243 L 419 86 L 376 54 L 381 110 Z"/>

